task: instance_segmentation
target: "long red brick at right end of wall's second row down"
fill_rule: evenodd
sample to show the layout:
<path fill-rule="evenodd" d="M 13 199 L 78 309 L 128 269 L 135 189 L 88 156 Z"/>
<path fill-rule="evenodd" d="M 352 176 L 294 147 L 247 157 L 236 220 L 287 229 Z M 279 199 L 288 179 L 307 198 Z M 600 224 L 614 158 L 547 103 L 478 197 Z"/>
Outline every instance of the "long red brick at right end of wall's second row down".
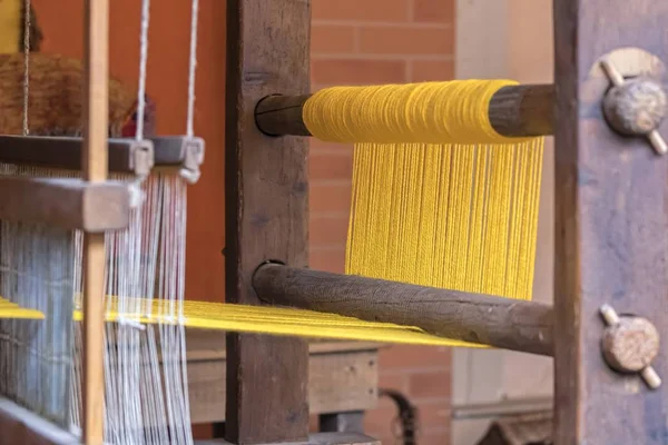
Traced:
<path fill-rule="evenodd" d="M 369 55 L 449 56 L 454 50 L 450 28 L 392 28 L 364 26 L 360 51 Z"/>

